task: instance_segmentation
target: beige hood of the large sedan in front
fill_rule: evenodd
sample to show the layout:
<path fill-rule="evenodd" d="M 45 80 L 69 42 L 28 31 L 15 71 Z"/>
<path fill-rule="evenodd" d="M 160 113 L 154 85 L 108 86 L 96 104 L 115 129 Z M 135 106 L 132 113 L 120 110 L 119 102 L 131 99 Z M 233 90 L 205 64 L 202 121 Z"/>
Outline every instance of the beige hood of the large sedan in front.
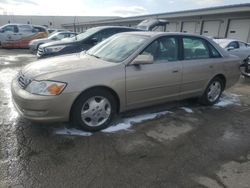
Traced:
<path fill-rule="evenodd" d="M 82 55 L 80 53 L 73 55 L 59 56 L 55 58 L 49 58 L 39 60 L 29 65 L 26 65 L 22 69 L 22 74 L 31 79 L 38 78 L 45 75 L 51 75 L 56 73 L 85 71 L 90 69 L 98 69 L 115 65 L 115 63 L 106 62 L 89 55 Z"/>

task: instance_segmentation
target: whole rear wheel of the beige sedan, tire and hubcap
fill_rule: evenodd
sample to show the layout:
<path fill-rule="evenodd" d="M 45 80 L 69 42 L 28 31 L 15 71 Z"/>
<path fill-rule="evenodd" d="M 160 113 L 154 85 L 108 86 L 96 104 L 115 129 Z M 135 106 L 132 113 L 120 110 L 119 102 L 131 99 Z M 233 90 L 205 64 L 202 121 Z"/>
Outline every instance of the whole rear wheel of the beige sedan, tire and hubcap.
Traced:
<path fill-rule="evenodd" d="M 223 90 L 224 82 L 219 77 L 215 77 L 209 82 L 205 92 L 201 96 L 201 104 L 211 106 L 217 103 L 221 97 Z"/>

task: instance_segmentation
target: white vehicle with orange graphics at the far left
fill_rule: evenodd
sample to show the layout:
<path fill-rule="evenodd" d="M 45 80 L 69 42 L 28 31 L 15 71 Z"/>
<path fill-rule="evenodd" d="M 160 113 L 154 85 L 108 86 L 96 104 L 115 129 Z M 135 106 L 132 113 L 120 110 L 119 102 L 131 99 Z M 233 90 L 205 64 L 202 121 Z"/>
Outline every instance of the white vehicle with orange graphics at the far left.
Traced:
<path fill-rule="evenodd" d="M 28 48 L 34 39 L 48 37 L 45 27 L 29 24 L 7 24 L 0 27 L 0 46 L 2 48 Z"/>

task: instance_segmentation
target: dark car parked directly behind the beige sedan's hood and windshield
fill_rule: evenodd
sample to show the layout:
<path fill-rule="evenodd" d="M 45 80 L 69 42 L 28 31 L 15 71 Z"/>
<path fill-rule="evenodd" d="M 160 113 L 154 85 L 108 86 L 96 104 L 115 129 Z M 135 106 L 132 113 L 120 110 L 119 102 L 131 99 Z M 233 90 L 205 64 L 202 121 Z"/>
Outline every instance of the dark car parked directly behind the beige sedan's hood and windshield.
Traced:
<path fill-rule="evenodd" d="M 64 41 L 49 42 L 39 46 L 38 58 L 78 53 L 88 50 L 104 39 L 121 32 L 142 31 L 130 27 L 102 26 L 88 29 L 76 37 Z"/>

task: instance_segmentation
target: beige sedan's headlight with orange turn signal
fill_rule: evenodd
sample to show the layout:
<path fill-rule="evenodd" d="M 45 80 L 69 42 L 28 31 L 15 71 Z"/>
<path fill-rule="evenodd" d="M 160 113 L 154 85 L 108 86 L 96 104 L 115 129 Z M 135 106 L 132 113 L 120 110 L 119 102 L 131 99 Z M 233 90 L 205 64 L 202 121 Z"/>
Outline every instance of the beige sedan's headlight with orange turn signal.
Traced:
<path fill-rule="evenodd" d="M 66 85 L 63 82 L 33 80 L 25 90 L 35 95 L 59 95 Z"/>

